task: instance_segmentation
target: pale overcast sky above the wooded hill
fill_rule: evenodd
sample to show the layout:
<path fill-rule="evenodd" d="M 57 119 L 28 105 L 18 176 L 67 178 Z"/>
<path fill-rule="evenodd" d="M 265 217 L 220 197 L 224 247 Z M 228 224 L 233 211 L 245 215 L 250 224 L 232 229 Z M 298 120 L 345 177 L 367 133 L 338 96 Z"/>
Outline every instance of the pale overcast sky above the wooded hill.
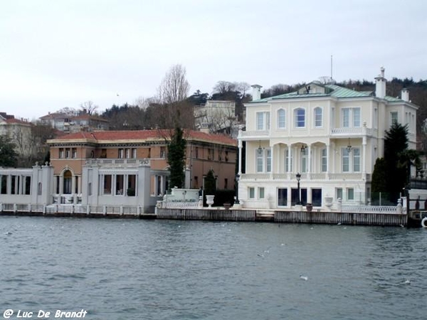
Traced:
<path fill-rule="evenodd" d="M 427 1 L 1 0 L 0 111 L 152 97 L 172 65 L 216 82 L 426 79 Z M 118 96 L 117 96 L 118 94 Z"/>

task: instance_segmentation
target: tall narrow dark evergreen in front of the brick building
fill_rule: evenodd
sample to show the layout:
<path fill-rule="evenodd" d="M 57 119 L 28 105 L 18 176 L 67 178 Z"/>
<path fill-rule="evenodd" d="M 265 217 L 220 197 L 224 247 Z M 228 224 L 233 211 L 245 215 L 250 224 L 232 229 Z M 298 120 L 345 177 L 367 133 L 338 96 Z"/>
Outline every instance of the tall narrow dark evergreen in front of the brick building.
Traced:
<path fill-rule="evenodd" d="M 175 186 L 182 188 L 184 186 L 186 140 L 183 135 L 182 129 L 176 127 L 168 145 L 167 163 L 169 164 L 170 172 L 170 188 Z"/>

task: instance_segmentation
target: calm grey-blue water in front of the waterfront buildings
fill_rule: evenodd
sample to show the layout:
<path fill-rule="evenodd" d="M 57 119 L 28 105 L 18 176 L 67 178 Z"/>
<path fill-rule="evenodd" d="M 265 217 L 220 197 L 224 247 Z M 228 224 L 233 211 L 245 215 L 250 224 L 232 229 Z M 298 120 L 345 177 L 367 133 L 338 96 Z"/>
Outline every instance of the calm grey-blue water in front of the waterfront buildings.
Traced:
<path fill-rule="evenodd" d="M 423 229 L 0 217 L 0 241 L 0 319 L 427 319 Z"/>

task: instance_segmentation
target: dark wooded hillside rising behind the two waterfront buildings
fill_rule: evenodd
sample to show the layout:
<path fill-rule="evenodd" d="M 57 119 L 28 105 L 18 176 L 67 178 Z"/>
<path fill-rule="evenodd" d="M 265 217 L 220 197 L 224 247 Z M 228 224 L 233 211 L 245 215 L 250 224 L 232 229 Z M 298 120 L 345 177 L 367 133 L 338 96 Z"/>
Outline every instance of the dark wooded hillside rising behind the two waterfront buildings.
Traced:
<path fill-rule="evenodd" d="M 337 82 L 336 85 L 347 87 L 356 91 L 374 91 L 375 84 L 367 80 L 347 80 Z M 261 97 L 271 97 L 283 93 L 294 92 L 306 83 L 295 85 L 273 85 L 263 91 Z M 191 127 L 194 123 L 193 112 L 189 112 L 196 105 L 203 105 L 206 100 L 233 100 L 236 102 L 236 117 L 239 121 L 243 120 L 243 105 L 251 101 L 251 95 L 248 94 L 250 86 L 246 82 L 227 82 L 219 81 L 211 95 L 207 92 L 196 90 L 193 95 L 189 96 L 180 105 L 166 106 L 158 102 L 149 102 L 144 107 L 140 105 L 125 104 L 122 106 L 113 105 L 110 109 L 102 113 L 102 117 L 110 120 L 110 129 L 151 129 L 155 127 L 163 128 L 169 125 L 168 119 L 174 119 L 171 112 L 178 112 L 182 117 L 185 114 L 187 118 L 186 126 Z M 412 78 L 398 79 L 393 78 L 387 82 L 386 95 L 391 97 L 400 97 L 402 89 L 409 90 L 409 99 L 420 108 L 417 112 L 417 133 L 418 148 L 420 151 L 427 151 L 427 80 L 413 81 Z"/>

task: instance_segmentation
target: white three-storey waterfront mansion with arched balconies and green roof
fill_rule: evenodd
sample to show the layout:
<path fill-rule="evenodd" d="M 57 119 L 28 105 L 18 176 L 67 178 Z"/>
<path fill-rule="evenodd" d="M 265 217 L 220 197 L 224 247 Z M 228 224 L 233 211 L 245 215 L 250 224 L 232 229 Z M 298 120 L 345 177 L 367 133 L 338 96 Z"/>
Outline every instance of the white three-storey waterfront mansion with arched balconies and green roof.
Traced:
<path fill-rule="evenodd" d="M 246 131 L 238 135 L 239 159 L 246 143 L 246 171 L 239 160 L 238 198 L 244 208 L 316 208 L 367 204 L 377 158 L 384 155 L 385 131 L 408 125 L 416 149 L 416 111 L 408 90 L 386 96 L 384 68 L 374 92 L 357 92 L 312 82 L 297 92 L 246 104 Z M 300 176 L 298 189 L 297 174 Z M 392 173 L 390 173 L 392 174 Z"/>

